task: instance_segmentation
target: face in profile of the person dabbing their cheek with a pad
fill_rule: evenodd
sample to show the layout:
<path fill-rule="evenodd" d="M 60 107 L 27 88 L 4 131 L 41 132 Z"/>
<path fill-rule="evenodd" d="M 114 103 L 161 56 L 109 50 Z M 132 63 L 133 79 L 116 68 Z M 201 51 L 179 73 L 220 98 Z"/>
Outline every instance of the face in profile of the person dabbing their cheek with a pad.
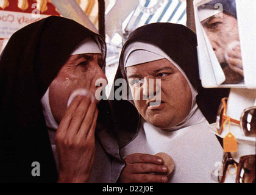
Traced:
<path fill-rule="evenodd" d="M 102 71 L 103 62 L 101 54 L 78 54 L 71 55 L 62 66 L 49 88 L 52 115 L 58 123 L 62 120 L 69 96 L 74 90 L 84 88 L 94 95 L 99 88 L 95 87 L 96 80 L 107 80 Z"/>

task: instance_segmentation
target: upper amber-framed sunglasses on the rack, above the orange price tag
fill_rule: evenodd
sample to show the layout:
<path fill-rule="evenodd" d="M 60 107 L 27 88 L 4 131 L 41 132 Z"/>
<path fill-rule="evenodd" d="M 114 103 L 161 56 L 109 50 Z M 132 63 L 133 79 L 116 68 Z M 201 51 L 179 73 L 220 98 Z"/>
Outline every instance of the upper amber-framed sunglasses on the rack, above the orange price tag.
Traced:
<path fill-rule="evenodd" d="M 219 135 L 221 135 L 224 129 L 224 124 L 227 120 L 240 125 L 244 136 L 256 137 L 256 106 L 249 107 L 243 110 L 240 121 L 237 121 L 236 119 L 227 116 L 227 98 L 223 98 L 221 100 L 221 104 L 219 105 L 218 115 L 216 119 L 216 129 Z"/>

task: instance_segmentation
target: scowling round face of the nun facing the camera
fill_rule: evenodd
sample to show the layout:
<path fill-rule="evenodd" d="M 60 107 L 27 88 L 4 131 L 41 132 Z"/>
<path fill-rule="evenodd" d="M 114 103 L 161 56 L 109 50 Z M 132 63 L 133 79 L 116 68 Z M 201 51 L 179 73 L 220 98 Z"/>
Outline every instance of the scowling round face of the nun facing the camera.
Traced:
<path fill-rule="evenodd" d="M 127 77 L 130 80 L 144 79 L 146 83 L 149 83 L 149 79 L 154 79 L 154 83 L 156 79 L 161 79 L 161 87 L 154 85 L 154 91 L 150 91 L 148 87 L 147 90 L 143 88 L 144 83 L 137 85 L 129 82 L 138 112 L 155 127 L 169 129 L 180 124 L 188 116 L 192 104 L 190 85 L 169 60 L 130 66 L 127 68 Z M 140 100 L 136 98 L 135 90 L 140 91 Z M 160 94 L 160 105 L 154 107 L 150 104 L 155 101 L 149 98 L 150 93 L 155 96 Z M 148 99 L 143 100 L 143 96 L 148 96 Z"/>

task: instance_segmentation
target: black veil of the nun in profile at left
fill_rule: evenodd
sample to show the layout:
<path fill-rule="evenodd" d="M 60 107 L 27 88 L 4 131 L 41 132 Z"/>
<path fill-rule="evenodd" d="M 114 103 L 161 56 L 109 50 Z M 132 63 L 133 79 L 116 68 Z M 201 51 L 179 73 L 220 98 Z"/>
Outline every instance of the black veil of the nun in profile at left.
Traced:
<path fill-rule="evenodd" d="M 73 49 L 91 35 L 71 19 L 50 16 L 10 38 L 0 60 L 0 182 L 57 181 L 40 100 Z M 34 161 L 40 177 L 32 177 Z"/>

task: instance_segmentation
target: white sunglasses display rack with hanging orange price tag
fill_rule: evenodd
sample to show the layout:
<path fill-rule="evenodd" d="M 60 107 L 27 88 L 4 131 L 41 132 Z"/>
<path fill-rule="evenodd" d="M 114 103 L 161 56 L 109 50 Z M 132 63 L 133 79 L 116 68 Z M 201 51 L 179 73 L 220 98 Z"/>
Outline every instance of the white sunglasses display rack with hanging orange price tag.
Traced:
<path fill-rule="evenodd" d="M 247 88 L 231 88 L 229 97 L 227 98 L 225 114 L 227 118 L 234 119 L 235 121 L 239 122 L 219 122 L 218 119 L 221 117 L 219 113 L 223 115 L 222 111 L 218 113 L 216 123 L 210 124 L 209 126 L 210 131 L 223 139 L 224 157 L 227 154 L 232 157 L 232 160 L 229 161 L 223 157 L 220 173 L 221 176 L 224 177 L 218 177 L 218 182 L 255 182 L 256 138 L 255 135 L 254 137 L 247 137 L 243 133 L 243 128 L 251 128 L 251 126 L 243 127 L 241 125 L 241 118 L 244 116 L 243 113 L 248 108 L 256 109 L 256 90 Z M 256 116 L 254 114 L 254 118 L 251 119 L 254 120 L 254 124 L 256 120 L 255 117 Z M 224 119 L 222 118 L 222 120 Z M 221 133 L 218 133 L 218 127 L 221 126 L 222 122 L 223 130 Z M 256 127 L 254 126 L 252 128 L 254 128 L 255 132 Z M 241 163 L 242 159 L 247 157 L 248 160 Z M 228 163 L 230 163 L 230 165 L 228 165 Z M 249 174 L 247 174 L 244 170 L 249 170 Z M 233 172 L 233 174 L 230 172 Z"/>

